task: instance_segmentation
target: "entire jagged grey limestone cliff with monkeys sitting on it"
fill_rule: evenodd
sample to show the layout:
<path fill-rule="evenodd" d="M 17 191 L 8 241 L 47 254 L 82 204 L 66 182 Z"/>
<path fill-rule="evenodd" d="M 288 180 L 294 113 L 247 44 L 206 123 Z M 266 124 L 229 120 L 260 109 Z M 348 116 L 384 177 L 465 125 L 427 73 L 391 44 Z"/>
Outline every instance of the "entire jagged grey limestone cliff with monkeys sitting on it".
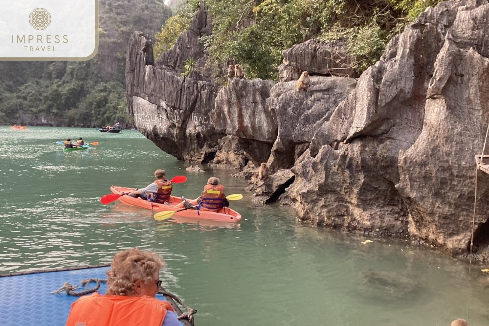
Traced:
<path fill-rule="evenodd" d="M 221 87 L 204 68 L 199 39 L 209 32 L 201 4 L 157 62 L 149 38 L 134 33 L 127 95 L 146 137 L 181 160 L 246 167 L 236 175 L 251 177 L 255 201 L 280 197 L 316 225 L 467 253 L 474 155 L 489 123 L 487 0 L 428 8 L 358 80 L 344 77 L 356 72 L 346 69 L 343 43 L 310 40 L 284 52 L 281 82 L 233 78 Z M 189 58 L 196 69 L 182 77 Z M 311 86 L 297 91 L 302 70 Z M 261 162 L 272 174 L 263 184 L 253 176 Z M 474 250 L 484 259 L 489 175 L 479 172 L 477 185 Z"/>

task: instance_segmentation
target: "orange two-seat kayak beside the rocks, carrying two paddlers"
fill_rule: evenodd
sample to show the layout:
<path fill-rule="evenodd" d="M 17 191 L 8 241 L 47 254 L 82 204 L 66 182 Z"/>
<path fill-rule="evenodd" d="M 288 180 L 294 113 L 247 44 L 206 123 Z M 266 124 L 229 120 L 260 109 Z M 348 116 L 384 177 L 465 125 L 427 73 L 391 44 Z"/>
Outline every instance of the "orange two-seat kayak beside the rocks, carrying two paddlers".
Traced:
<path fill-rule="evenodd" d="M 127 188 L 127 187 L 111 186 L 112 194 L 117 194 L 117 195 L 129 193 L 133 190 L 135 189 Z M 181 207 L 176 206 L 179 203 L 181 203 L 180 197 L 176 197 L 176 196 L 170 196 L 170 205 L 158 204 L 141 198 L 134 198 L 131 196 L 120 196 L 118 199 L 120 202 L 126 205 L 151 209 L 155 212 L 178 211 L 182 209 Z M 222 208 L 219 212 L 197 211 L 194 209 L 188 209 L 188 210 L 175 213 L 175 215 L 202 219 L 202 220 L 205 219 L 205 220 L 213 220 L 213 221 L 222 221 L 222 222 L 241 221 L 241 214 L 228 207 Z"/>

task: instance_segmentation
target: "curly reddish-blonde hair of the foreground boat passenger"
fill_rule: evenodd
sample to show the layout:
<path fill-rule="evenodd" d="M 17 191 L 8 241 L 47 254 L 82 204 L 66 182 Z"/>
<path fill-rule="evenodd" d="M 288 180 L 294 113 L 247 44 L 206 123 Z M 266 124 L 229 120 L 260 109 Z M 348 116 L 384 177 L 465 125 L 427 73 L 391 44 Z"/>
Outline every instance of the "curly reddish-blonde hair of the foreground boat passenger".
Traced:
<path fill-rule="evenodd" d="M 155 274 L 164 262 L 153 251 L 141 251 L 139 248 L 119 251 L 112 259 L 111 269 L 106 274 L 107 295 L 131 295 L 137 280 L 155 281 Z"/>

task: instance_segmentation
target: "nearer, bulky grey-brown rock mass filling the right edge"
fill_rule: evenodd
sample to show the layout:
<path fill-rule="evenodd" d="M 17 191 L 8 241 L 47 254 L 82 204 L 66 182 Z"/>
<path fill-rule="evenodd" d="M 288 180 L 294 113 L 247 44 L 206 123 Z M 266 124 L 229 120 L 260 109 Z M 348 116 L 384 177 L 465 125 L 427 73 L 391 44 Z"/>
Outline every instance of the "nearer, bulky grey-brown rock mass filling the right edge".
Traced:
<path fill-rule="evenodd" d="M 302 219 L 466 252 L 489 123 L 489 4 L 428 8 L 314 134 L 288 195 Z M 488 241 L 478 173 L 474 243 Z M 483 236 L 483 234 L 485 234 Z"/>

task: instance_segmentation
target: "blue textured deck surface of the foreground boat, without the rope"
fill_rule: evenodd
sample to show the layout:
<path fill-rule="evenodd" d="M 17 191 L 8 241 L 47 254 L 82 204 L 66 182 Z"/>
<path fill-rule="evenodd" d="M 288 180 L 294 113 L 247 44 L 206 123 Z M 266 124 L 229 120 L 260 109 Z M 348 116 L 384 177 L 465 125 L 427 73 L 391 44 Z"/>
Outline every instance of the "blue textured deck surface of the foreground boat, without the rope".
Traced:
<path fill-rule="evenodd" d="M 65 291 L 50 294 L 65 282 L 79 284 L 86 279 L 107 279 L 107 266 L 54 272 L 39 272 L 0 277 L 1 326 L 65 326 L 71 304 L 79 297 Z M 93 288 L 96 283 L 90 283 Z M 104 294 L 107 286 L 101 283 L 98 292 Z M 85 287 L 78 291 L 85 290 Z M 157 299 L 165 300 L 161 294 Z M 180 325 L 183 324 L 180 322 Z"/>

